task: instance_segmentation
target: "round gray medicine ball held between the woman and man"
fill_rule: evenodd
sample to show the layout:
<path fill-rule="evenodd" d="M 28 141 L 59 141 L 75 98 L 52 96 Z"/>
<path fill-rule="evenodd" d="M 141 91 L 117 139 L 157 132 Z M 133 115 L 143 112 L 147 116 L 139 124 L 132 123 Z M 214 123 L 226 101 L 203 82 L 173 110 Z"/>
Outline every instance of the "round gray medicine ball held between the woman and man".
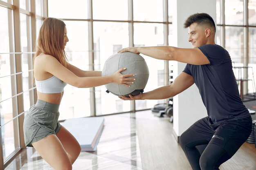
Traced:
<path fill-rule="evenodd" d="M 116 53 L 111 55 L 108 60 L 106 60 L 102 76 L 112 75 L 121 68 L 126 68 L 121 74 L 134 74 L 134 84 L 129 84 L 130 87 L 119 85 L 115 83 L 106 84 L 108 89 L 106 92 L 111 92 L 114 95 L 124 95 L 129 97 L 129 95 L 139 95 L 143 93 L 143 90 L 148 82 L 148 66 L 143 57 L 139 54 L 125 52 Z"/>

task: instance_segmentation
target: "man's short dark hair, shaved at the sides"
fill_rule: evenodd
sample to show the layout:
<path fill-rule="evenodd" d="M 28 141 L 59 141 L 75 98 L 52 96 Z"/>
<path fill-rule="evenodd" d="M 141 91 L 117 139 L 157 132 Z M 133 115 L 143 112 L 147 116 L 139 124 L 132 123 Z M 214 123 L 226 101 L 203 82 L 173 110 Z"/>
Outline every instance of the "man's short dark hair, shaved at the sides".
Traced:
<path fill-rule="evenodd" d="M 198 25 L 207 24 L 209 26 L 212 26 L 214 28 L 214 31 L 216 31 L 215 23 L 208 13 L 195 13 L 193 15 L 190 15 L 189 18 L 187 18 L 184 22 L 184 28 L 188 28 L 193 23 L 197 23 Z"/>

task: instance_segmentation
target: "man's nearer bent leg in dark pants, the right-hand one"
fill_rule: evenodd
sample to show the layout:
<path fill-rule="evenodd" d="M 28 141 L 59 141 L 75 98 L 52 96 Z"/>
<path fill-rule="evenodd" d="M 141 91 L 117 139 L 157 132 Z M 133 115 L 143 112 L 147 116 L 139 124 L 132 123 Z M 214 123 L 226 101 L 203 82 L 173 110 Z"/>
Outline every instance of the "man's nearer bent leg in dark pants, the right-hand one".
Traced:
<path fill-rule="evenodd" d="M 251 130 L 251 117 L 227 121 L 218 126 L 200 158 L 201 170 L 219 170 L 220 165 L 230 159 L 242 146 Z"/>

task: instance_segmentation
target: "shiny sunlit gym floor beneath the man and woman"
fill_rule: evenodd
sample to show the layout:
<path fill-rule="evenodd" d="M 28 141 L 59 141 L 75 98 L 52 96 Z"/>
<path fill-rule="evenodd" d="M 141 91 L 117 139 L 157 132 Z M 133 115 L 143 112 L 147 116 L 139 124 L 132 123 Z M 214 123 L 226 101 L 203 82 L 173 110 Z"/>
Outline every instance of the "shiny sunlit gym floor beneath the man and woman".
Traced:
<path fill-rule="evenodd" d="M 172 135 L 172 127 L 167 117 L 156 117 L 151 110 L 106 116 L 97 151 L 81 152 L 73 170 L 167 170 L 164 166 L 169 170 L 191 170 Z M 256 170 L 254 144 L 245 142 L 220 167 L 231 169 Z M 27 148 L 5 170 L 53 169 L 33 148 Z"/>

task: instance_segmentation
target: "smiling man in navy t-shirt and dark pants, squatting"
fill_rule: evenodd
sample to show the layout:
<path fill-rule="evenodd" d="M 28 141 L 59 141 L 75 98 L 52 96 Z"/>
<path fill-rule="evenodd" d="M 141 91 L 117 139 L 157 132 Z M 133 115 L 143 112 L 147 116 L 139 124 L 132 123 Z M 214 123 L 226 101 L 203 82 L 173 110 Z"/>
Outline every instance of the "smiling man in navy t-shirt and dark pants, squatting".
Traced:
<path fill-rule="evenodd" d="M 239 97 L 229 53 L 215 44 L 216 26 L 207 13 L 195 13 L 184 22 L 193 49 L 172 46 L 129 47 L 119 52 L 142 53 L 160 60 L 187 63 L 169 86 L 123 100 L 166 99 L 196 84 L 207 117 L 195 122 L 180 136 L 180 146 L 193 170 L 219 170 L 249 137 L 252 117 Z M 207 147 L 200 155 L 195 146 Z"/>

